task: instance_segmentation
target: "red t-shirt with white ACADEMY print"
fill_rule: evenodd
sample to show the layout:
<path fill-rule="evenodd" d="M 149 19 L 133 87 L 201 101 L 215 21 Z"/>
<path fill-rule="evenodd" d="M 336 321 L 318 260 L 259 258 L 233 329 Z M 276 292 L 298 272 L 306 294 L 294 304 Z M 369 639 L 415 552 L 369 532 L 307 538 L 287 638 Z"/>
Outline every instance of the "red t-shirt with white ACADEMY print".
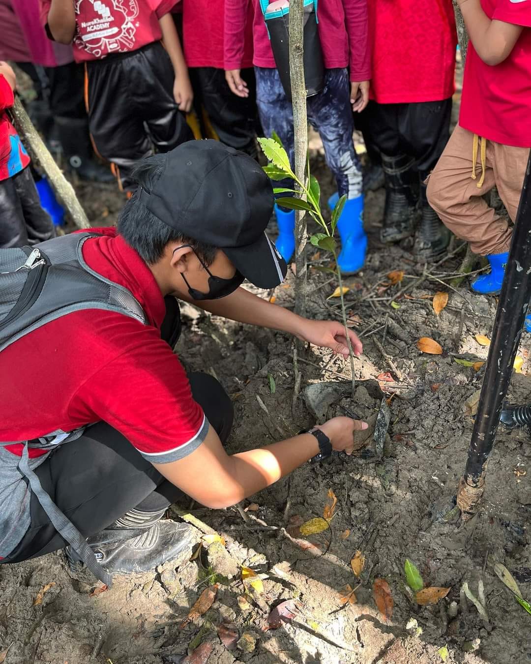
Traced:
<path fill-rule="evenodd" d="M 52 0 L 40 0 L 42 23 L 48 23 Z M 159 41 L 159 19 L 175 0 L 76 0 L 76 62 L 101 60 Z"/>

